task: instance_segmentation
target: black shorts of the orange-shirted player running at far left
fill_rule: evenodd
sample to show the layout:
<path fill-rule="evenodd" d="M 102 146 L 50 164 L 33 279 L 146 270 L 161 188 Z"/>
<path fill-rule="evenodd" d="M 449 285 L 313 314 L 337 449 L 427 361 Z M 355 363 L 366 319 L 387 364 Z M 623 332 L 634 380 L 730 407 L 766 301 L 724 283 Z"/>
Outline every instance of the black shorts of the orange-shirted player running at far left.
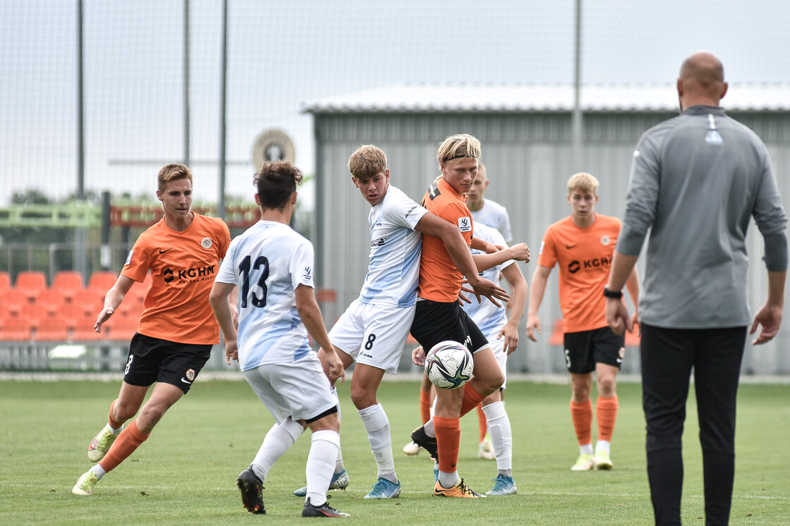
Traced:
<path fill-rule="evenodd" d="M 211 345 L 178 344 L 140 333 L 132 336 L 123 381 L 148 387 L 155 381 L 175 385 L 185 394 L 209 360 Z"/>

